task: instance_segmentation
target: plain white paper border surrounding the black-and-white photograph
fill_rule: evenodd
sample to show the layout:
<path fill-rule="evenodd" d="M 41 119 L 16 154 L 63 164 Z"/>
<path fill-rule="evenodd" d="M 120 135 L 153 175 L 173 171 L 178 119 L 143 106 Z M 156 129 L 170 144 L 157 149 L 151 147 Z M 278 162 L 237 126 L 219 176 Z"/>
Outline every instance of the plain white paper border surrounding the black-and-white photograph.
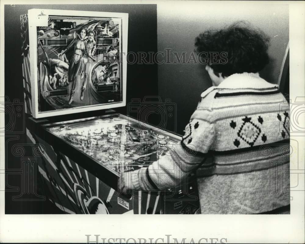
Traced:
<path fill-rule="evenodd" d="M 22 1 L 22 4 L 47 3 L 44 0 Z M 171 4 L 183 5 L 188 1 L 129 1 L 128 4 Z M 289 45 L 290 45 L 290 99 L 304 97 L 305 80 L 305 3 L 303 1 L 202 1 L 215 8 L 225 4 L 239 7 L 256 3 L 289 4 Z M 19 2 L 20 3 L 20 2 Z M 125 1 L 52 1 L 52 4 L 126 4 Z M 189 1 L 194 7 L 197 1 Z M 256 4 L 255 3 L 255 4 Z M 4 96 L 4 4 L 12 4 L 2 0 L 0 6 L 0 96 Z M 191 8 L 190 8 L 191 9 Z M 188 11 L 189 9 L 185 9 Z M 158 9 L 157 9 L 158 11 Z M 18 30 L 16 30 L 18 31 Z M 302 118 L 301 118 L 302 119 Z M 304 122 L 304 118 L 302 121 Z M 0 117 L 0 128 L 4 128 L 4 113 Z M 300 182 L 300 190 L 291 192 L 290 214 L 270 215 L 57 215 L 57 214 L 5 214 L 5 138 L 0 136 L 0 240 L 1 242 L 60 242 L 85 243 L 86 235 L 91 243 L 95 235 L 99 235 L 98 243 L 106 243 L 108 238 L 164 238 L 170 235 L 170 240 L 177 238 L 179 243 L 186 238 L 198 241 L 200 238 L 226 238 L 226 243 L 304 243 L 304 147 L 305 137 L 291 137 L 298 140 L 300 174 L 292 173 L 291 186 Z M 293 155 L 291 155 L 291 158 Z M 295 165 L 291 163 L 293 169 Z M 106 241 L 105 241 L 106 239 Z M 210 240 L 210 239 L 209 239 Z M 115 242 L 115 240 L 112 240 Z M 132 243 L 132 242 L 129 242 Z M 144 242 L 142 242 L 144 243 Z M 151 243 L 151 242 L 146 242 Z M 162 241 L 152 242 L 162 243 Z M 165 243 L 165 242 L 164 242 Z M 182 243 L 182 242 L 181 242 Z M 193 242 L 194 243 L 194 242 Z M 201 243 L 207 243 L 202 241 Z M 210 242 L 210 243 L 215 243 Z"/>

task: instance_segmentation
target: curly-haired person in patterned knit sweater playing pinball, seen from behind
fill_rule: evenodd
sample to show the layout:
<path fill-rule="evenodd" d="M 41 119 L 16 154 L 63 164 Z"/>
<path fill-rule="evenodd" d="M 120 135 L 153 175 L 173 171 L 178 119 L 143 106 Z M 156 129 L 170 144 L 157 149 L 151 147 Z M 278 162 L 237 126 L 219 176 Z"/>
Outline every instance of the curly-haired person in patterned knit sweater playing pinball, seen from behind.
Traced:
<path fill-rule="evenodd" d="M 202 214 L 288 213 L 289 106 L 258 73 L 269 62 L 269 38 L 237 23 L 203 32 L 195 46 L 199 58 L 209 57 L 213 86 L 174 150 L 122 175 L 120 189 L 165 190 L 196 171 Z"/>

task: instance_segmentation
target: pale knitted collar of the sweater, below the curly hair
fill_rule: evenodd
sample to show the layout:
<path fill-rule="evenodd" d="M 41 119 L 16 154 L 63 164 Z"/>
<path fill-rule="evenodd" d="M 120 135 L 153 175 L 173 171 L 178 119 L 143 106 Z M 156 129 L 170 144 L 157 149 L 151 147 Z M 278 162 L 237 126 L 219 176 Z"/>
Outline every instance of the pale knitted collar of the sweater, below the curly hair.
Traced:
<path fill-rule="evenodd" d="M 259 73 L 235 73 L 224 79 L 217 87 L 210 87 L 206 89 L 201 97 L 205 97 L 212 90 L 215 89 L 278 89 L 278 85 L 267 82 L 260 78 Z"/>

